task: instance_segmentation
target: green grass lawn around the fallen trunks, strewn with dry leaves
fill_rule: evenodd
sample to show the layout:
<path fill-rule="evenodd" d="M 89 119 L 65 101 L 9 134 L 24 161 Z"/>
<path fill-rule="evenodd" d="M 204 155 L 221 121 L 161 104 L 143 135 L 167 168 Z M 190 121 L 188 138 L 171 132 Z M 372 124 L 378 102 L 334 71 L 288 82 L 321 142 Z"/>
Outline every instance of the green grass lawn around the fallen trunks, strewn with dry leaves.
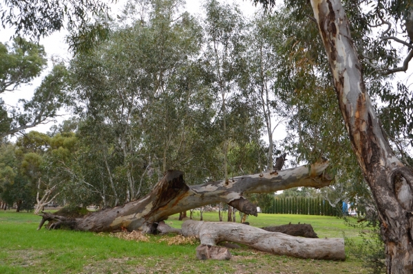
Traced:
<path fill-rule="evenodd" d="M 199 215 L 195 214 L 195 219 Z M 239 216 L 237 216 L 239 220 Z M 151 236 L 149 242 L 134 242 L 78 231 L 41 229 L 39 216 L 0 212 L 0 273 L 367 273 L 357 258 L 345 262 L 302 260 L 271 255 L 243 247 L 232 250 L 229 261 L 200 261 L 197 244 L 169 246 Z M 218 220 L 207 212 L 204 220 Z M 335 217 L 260 214 L 248 221 L 256 227 L 310 223 L 319 237 L 342 237 L 357 233 Z M 167 223 L 180 227 L 178 215 Z M 353 235 L 354 234 L 354 235 Z"/>

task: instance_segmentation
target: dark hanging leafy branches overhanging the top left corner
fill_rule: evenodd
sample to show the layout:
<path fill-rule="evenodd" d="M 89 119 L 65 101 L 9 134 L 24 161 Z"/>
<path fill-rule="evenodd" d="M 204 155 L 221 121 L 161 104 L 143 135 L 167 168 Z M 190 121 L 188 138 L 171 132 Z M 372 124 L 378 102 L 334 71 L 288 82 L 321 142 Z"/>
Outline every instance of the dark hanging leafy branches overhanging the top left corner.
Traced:
<path fill-rule="evenodd" d="M 74 52 L 87 51 L 107 37 L 107 25 L 93 19 L 107 14 L 111 2 L 3 0 L 0 3 L 1 26 L 14 30 L 14 37 L 35 41 L 65 28 L 70 32 L 67 36 L 70 48 Z"/>

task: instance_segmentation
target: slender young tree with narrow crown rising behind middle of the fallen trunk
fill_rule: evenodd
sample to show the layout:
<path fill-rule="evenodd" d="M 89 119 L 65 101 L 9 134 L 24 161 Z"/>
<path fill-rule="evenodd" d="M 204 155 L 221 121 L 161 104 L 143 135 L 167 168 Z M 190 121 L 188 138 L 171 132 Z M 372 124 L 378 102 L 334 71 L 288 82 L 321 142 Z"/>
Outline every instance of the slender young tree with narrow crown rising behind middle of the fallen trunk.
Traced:
<path fill-rule="evenodd" d="M 216 0 L 204 3 L 205 57 L 214 76 L 213 89 L 220 95 L 220 113 L 217 118 L 222 122 L 222 152 L 224 155 L 224 178 L 228 180 L 228 159 L 231 124 L 228 124 L 228 104 L 236 100 L 237 78 L 244 69 L 244 47 L 246 25 L 237 5 L 221 4 Z M 236 103 L 235 103 L 236 104 Z"/>

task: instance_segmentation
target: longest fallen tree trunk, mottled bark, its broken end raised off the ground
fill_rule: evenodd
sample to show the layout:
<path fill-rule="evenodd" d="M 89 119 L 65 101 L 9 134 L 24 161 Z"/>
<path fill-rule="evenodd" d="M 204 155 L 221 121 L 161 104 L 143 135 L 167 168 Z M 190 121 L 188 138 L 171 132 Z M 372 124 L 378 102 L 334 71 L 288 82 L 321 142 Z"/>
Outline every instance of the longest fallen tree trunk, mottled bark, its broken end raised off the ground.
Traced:
<path fill-rule="evenodd" d="M 153 190 L 138 201 L 90 213 L 84 218 L 65 218 L 43 213 L 39 229 L 45 221 L 54 221 L 51 229 L 65 226 L 80 231 L 114 231 L 118 229 L 156 231 L 158 222 L 168 216 L 202 205 L 227 203 L 245 214 L 257 216 L 257 207 L 242 195 L 272 193 L 290 187 L 324 187 L 331 178 L 325 174 L 328 162 L 299 166 L 277 172 L 237 176 L 231 180 L 188 186 L 183 173 L 168 171 Z"/>

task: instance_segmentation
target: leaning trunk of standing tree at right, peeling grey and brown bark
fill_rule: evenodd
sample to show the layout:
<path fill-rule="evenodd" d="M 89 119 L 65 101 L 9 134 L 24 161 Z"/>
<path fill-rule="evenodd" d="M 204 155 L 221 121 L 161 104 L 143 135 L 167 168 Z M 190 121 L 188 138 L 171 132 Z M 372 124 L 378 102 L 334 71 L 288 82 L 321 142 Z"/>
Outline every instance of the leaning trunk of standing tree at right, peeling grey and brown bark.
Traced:
<path fill-rule="evenodd" d="M 381 221 L 388 273 L 413 273 L 413 174 L 383 136 L 339 0 L 311 0 L 339 108 Z"/>

